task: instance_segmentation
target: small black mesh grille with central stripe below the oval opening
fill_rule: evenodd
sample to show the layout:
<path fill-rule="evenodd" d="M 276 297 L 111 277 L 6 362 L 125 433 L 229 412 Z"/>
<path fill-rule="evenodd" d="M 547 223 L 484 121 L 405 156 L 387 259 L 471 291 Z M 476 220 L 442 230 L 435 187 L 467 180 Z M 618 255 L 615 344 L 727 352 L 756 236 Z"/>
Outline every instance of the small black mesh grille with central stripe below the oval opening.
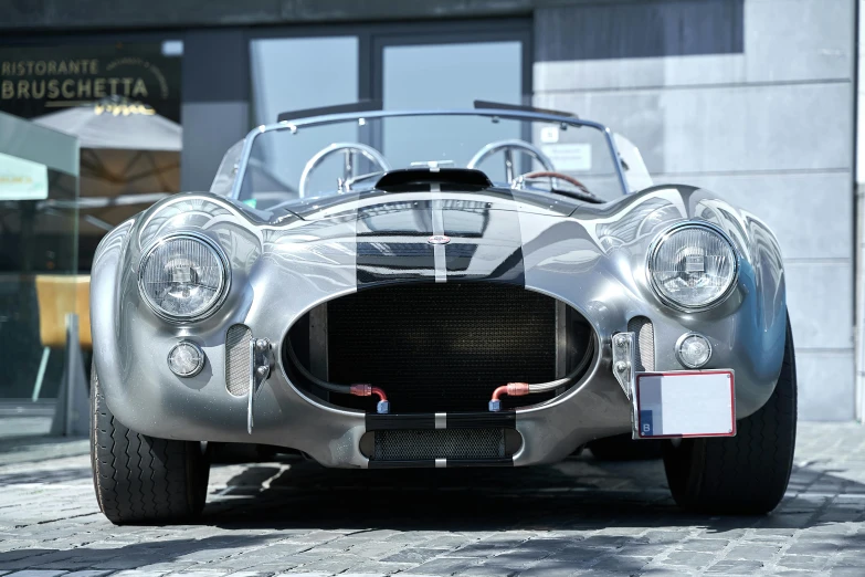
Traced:
<path fill-rule="evenodd" d="M 505 450 L 504 429 L 426 429 L 376 431 L 373 461 L 496 459 Z"/>

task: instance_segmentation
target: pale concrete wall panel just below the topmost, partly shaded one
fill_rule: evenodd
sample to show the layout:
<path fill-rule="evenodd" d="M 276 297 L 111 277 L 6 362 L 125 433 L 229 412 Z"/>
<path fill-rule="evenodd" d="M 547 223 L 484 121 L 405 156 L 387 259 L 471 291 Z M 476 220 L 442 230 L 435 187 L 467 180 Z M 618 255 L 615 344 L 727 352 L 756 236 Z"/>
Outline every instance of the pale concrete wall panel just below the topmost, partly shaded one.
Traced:
<path fill-rule="evenodd" d="M 652 172 L 850 168 L 850 83 L 538 93 L 537 106 L 608 124 Z"/>

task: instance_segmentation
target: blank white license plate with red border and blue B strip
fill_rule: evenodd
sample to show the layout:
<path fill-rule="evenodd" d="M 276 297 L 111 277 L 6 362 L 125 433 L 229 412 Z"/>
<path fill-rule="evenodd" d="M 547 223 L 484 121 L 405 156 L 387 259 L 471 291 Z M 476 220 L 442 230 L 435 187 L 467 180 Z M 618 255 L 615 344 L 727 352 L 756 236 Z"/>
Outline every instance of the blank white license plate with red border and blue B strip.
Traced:
<path fill-rule="evenodd" d="M 732 437 L 736 392 L 731 370 L 636 375 L 637 438 Z"/>

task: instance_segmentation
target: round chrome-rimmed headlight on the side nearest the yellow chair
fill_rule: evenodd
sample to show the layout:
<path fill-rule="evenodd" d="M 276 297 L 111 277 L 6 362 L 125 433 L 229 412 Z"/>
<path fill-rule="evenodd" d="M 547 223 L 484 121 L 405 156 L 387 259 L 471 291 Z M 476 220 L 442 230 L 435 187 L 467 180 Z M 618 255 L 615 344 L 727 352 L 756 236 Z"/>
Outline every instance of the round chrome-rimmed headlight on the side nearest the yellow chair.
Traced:
<path fill-rule="evenodd" d="M 167 237 L 141 258 L 138 287 L 159 316 L 169 321 L 205 317 L 222 302 L 229 285 L 228 261 L 207 237 Z"/>

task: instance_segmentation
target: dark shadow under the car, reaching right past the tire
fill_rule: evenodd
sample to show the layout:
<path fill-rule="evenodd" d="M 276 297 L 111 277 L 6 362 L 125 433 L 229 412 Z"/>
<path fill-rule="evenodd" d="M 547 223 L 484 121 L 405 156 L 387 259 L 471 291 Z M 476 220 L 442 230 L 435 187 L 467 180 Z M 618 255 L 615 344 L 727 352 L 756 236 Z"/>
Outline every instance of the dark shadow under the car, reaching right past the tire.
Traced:
<path fill-rule="evenodd" d="M 791 487 L 865 485 L 795 468 Z M 215 495 L 213 495 L 215 496 Z M 326 470 L 299 459 L 251 465 L 209 497 L 203 523 L 224 527 L 389 528 L 397 531 L 589 529 L 612 526 L 804 528 L 851 520 L 851 502 L 789 496 L 769 516 L 707 516 L 681 511 L 656 461 L 571 458 L 526 469 Z"/>

